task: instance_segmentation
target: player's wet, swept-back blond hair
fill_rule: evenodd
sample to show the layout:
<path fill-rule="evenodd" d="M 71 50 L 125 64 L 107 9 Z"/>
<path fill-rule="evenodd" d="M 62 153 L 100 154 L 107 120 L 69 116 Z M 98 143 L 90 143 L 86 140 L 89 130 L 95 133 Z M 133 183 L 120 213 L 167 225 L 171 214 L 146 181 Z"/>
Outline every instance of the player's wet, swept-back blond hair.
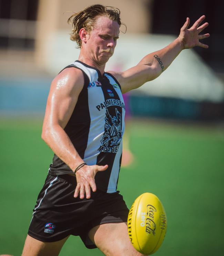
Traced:
<path fill-rule="evenodd" d="M 102 4 L 93 4 L 86 7 L 84 10 L 74 13 L 69 19 L 68 23 L 72 24 L 72 32 L 70 39 L 77 43 L 77 48 L 81 48 L 82 40 L 79 36 L 79 31 L 84 28 L 88 33 L 93 29 L 94 23 L 99 16 L 108 17 L 111 20 L 118 22 L 119 27 L 121 23 L 120 10 L 111 6 L 103 6 Z M 126 25 L 123 24 L 125 27 Z"/>

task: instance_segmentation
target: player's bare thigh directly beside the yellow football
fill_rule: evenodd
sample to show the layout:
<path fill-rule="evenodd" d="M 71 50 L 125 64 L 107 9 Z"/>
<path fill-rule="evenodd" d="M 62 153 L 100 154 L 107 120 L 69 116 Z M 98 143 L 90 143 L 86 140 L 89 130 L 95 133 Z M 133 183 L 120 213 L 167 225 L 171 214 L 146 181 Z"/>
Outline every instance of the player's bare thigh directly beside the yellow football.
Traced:
<path fill-rule="evenodd" d="M 125 222 L 98 225 L 89 231 L 89 237 L 106 256 L 142 255 L 132 246 Z"/>

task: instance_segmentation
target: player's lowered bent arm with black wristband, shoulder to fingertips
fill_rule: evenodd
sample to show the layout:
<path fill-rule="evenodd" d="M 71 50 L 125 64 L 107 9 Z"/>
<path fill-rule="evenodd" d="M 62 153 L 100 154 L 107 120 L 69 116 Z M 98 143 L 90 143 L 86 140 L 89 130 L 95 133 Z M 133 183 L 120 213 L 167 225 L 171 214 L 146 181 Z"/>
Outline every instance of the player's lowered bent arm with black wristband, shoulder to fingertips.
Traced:
<path fill-rule="evenodd" d="M 84 161 L 64 128 L 72 115 L 83 85 L 82 71 L 76 68 L 66 68 L 55 77 L 51 84 L 42 129 L 42 139 L 73 172 Z M 80 193 L 80 198 L 84 198 L 84 194 L 86 198 L 90 198 L 90 188 L 96 190 L 96 172 L 106 168 L 106 165 L 84 165 L 80 168 L 76 172 L 77 187 L 74 196 L 77 197 Z"/>

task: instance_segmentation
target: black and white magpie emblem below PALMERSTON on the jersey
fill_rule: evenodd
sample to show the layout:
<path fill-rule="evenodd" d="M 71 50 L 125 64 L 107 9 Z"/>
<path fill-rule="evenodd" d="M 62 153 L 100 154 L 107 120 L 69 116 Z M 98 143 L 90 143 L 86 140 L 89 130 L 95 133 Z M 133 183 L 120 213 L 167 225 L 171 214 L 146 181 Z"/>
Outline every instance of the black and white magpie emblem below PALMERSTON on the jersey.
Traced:
<path fill-rule="evenodd" d="M 106 109 L 105 131 L 101 139 L 100 152 L 117 153 L 122 140 L 121 113 L 115 108 L 116 115 L 112 116 Z"/>

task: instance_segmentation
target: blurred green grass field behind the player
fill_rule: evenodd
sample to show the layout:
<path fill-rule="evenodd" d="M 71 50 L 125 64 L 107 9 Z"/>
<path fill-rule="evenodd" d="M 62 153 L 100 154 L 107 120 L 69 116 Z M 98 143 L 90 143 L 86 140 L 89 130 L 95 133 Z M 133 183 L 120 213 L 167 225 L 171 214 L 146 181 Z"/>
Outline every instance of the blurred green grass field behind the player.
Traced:
<path fill-rule="evenodd" d="M 132 122 L 135 162 L 120 172 L 118 189 L 131 206 L 156 194 L 167 214 L 167 234 L 157 256 L 224 254 L 224 129 L 165 122 Z M 41 122 L 0 121 L 0 254 L 21 255 L 32 209 L 53 153 L 41 140 Z M 102 255 L 70 237 L 61 256 Z"/>

